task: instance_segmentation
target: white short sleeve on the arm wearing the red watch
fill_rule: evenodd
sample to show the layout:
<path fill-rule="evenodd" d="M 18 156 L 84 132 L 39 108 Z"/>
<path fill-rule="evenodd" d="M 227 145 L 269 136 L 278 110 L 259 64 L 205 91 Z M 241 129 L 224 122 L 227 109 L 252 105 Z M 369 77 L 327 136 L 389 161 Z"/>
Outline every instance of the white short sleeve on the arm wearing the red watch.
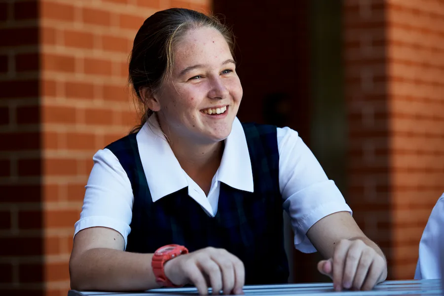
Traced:
<path fill-rule="evenodd" d="M 134 201 L 131 182 L 111 150 L 99 150 L 93 160 L 80 220 L 74 224 L 74 236 L 85 228 L 108 227 L 123 236 L 126 249 Z"/>

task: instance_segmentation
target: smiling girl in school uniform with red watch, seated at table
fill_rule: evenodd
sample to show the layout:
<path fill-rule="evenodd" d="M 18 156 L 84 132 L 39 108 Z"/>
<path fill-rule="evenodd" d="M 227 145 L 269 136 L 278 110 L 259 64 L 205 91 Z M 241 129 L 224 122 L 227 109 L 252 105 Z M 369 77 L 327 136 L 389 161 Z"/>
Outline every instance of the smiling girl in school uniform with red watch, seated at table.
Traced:
<path fill-rule="evenodd" d="M 129 75 L 144 116 L 93 157 L 72 289 L 241 294 L 286 283 L 283 210 L 296 249 L 326 258 L 318 269 L 336 290 L 385 280 L 384 255 L 297 132 L 236 117 L 233 37 L 217 19 L 180 8 L 148 17 Z"/>

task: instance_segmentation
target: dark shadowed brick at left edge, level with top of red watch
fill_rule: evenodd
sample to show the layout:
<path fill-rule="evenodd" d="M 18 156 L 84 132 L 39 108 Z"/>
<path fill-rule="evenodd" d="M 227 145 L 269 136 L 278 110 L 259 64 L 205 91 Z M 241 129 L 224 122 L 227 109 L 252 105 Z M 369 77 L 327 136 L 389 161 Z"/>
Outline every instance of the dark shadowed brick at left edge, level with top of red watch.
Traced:
<path fill-rule="evenodd" d="M 43 255 L 43 241 L 39 237 L 0 237 L 0 246 L 2 256 Z"/>

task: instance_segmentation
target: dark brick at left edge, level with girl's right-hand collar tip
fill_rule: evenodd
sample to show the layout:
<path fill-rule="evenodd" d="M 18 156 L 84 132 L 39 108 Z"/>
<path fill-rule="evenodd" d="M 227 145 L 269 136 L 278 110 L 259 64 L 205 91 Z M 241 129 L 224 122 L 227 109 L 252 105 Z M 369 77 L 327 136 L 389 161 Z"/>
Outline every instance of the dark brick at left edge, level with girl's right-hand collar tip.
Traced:
<path fill-rule="evenodd" d="M 40 185 L 1 185 L 1 201 L 13 203 L 40 202 Z"/>

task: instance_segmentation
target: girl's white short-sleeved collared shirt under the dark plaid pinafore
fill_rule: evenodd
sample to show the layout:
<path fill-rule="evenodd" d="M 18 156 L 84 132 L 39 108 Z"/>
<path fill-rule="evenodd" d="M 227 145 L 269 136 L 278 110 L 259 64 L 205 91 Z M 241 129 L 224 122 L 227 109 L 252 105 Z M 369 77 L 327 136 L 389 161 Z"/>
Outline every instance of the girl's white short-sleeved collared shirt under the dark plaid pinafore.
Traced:
<path fill-rule="evenodd" d="M 225 139 L 221 165 L 206 196 L 182 169 L 153 117 L 136 136 L 153 202 L 188 187 L 190 198 L 214 217 L 218 211 L 221 182 L 239 190 L 254 191 L 247 140 L 238 118 L 235 118 L 231 133 Z M 277 143 L 279 187 L 284 210 L 291 218 L 295 247 L 305 253 L 316 252 L 306 236 L 308 229 L 330 214 L 341 211 L 351 213 L 351 209 L 296 131 L 289 127 L 277 128 Z M 93 160 L 80 220 L 74 225 L 74 235 L 88 227 L 109 227 L 123 236 L 126 248 L 134 201 L 131 183 L 111 150 L 99 150 Z"/>

